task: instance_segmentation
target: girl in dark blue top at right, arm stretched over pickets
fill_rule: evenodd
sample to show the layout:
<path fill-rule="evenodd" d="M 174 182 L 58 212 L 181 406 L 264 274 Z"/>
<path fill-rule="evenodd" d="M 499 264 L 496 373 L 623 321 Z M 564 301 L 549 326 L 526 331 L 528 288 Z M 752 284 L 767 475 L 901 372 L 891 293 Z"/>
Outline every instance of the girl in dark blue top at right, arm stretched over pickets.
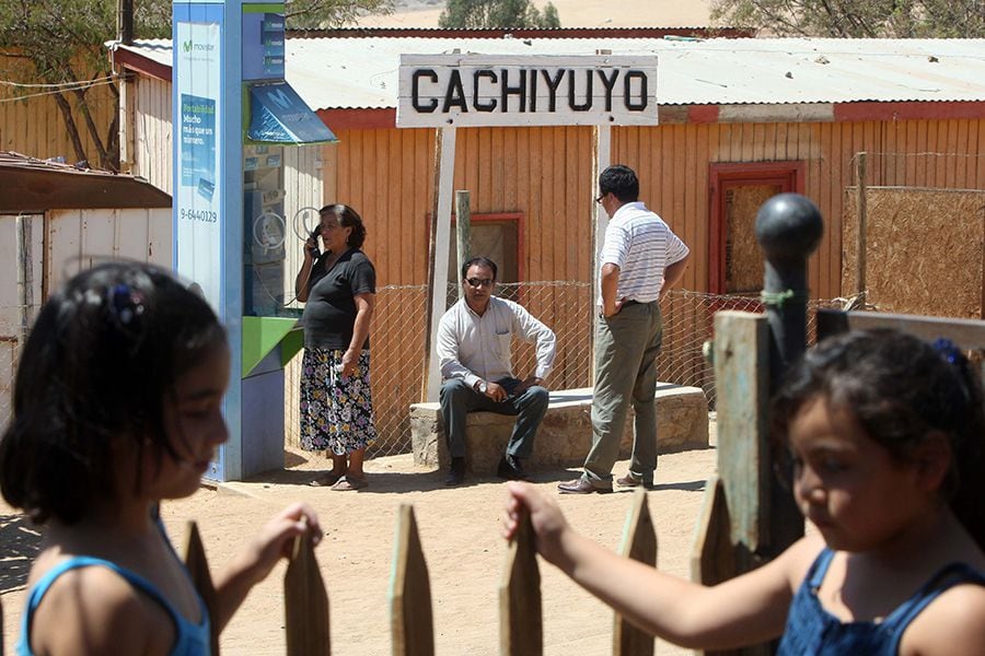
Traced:
<path fill-rule="evenodd" d="M 985 654 L 985 421 L 964 356 L 889 330 L 809 351 L 774 399 L 793 495 L 818 534 L 715 587 L 578 535 L 511 482 L 505 535 L 530 511 L 538 552 L 647 631 L 780 654 Z"/>

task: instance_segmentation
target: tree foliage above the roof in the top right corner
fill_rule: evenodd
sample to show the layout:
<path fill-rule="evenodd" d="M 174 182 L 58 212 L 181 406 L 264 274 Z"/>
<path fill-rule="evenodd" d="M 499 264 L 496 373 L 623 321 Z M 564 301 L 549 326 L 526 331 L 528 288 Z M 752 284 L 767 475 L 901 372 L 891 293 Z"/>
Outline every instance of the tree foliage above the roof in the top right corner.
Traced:
<path fill-rule="evenodd" d="M 778 36 L 985 37 L 982 0 L 714 0 L 711 20 Z"/>

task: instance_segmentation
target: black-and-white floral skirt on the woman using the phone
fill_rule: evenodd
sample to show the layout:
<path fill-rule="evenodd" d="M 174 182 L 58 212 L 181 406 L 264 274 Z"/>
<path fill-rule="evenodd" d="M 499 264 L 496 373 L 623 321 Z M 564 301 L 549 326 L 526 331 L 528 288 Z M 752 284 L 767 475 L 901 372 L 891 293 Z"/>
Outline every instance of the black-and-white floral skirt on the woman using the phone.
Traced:
<path fill-rule="evenodd" d="M 301 362 L 301 448 L 337 456 L 376 438 L 369 383 L 369 350 L 351 376 L 339 374 L 344 350 L 305 349 Z"/>

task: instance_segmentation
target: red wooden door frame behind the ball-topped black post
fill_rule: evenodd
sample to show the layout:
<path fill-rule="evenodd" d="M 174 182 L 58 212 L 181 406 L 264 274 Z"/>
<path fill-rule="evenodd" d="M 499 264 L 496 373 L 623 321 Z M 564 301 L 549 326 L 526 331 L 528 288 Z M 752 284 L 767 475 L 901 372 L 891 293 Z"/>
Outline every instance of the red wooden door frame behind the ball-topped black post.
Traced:
<path fill-rule="evenodd" d="M 802 160 L 783 162 L 727 162 L 708 165 L 708 291 L 725 292 L 725 199 L 726 189 L 738 185 L 779 185 L 784 191 L 803 194 L 804 171 Z"/>

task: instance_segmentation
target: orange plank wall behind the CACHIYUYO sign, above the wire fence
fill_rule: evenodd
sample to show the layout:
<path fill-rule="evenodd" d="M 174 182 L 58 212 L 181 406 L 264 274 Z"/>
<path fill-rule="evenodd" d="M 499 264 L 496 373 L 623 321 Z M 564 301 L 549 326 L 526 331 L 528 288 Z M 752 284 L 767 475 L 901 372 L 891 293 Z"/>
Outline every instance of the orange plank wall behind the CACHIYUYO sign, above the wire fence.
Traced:
<path fill-rule="evenodd" d="M 426 283 L 433 131 L 337 132 L 340 143 L 323 157 L 325 200 L 362 213 L 381 285 Z M 456 139 L 454 188 L 472 191 L 472 211 L 524 215 L 524 279 L 591 280 L 591 128 L 468 128 Z M 845 187 L 855 184 L 855 154 L 870 153 L 870 185 L 983 189 L 980 145 L 985 120 L 679 124 L 614 128 L 612 162 L 637 171 L 641 198 L 691 246 L 683 286 L 694 291 L 708 289 L 709 164 L 804 162 L 806 194 L 825 220 L 809 283 L 812 296 L 832 298 L 842 293 L 842 207 Z"/>

